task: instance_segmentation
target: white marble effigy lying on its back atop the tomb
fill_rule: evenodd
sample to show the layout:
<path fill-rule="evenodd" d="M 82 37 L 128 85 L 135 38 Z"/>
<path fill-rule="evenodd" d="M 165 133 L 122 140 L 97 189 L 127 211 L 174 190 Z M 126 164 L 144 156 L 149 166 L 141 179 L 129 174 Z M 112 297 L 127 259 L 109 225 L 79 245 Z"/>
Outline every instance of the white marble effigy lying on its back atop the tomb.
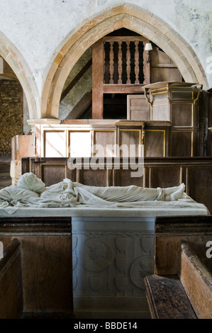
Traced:
<path fill-rule="evenodd" d="M 72 182 L 70 179 L 46 187 L 41 179 L 28 172 L 21 175 L 15 185 L 0 190 L 0 207 L 74 207 L 81 203 L 113 208 L 133 207 L 145 201 L 178 201 L 189 198 L 184 190 L 184 184 L 170 188 L 143 188 L 134 185 L 97 187 Z"/>

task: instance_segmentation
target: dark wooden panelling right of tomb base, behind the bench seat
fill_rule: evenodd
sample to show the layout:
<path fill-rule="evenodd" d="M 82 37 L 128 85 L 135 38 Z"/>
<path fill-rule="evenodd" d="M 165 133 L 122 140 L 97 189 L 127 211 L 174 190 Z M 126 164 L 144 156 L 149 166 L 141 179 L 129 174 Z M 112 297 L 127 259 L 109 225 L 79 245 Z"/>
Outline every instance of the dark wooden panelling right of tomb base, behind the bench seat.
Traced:
<path fill-rule="evenodd" d="M 194 244 L 206 258 L 206 242 L 212 237 L 211 216 L 157 217 L 155 219 L 155 273 L 179 273 L 182 241 Z"/>

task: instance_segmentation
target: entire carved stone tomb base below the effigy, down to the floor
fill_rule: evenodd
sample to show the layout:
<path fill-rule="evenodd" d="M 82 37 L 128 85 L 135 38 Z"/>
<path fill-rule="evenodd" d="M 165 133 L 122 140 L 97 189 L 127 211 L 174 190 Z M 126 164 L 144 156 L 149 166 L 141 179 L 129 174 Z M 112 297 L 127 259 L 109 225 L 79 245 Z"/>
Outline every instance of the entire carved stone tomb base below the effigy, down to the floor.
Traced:
<path fill-rule="evenodd" d="M 154 218 L 72 218 L 77 318 L 150 318 L 143 278 L 153 272 L 154 226 Z"/>

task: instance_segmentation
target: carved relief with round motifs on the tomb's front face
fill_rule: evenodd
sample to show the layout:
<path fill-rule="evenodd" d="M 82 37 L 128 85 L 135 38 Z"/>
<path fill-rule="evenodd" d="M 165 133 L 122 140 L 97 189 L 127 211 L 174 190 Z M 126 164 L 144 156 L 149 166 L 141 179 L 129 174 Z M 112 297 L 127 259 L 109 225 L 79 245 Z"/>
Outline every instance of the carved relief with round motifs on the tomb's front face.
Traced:
<path fill-rule="evenodd" d="M 95 231 L 86 230 L 86 223 L 84 230 L 73 230 L 74 295 L 145 295 L 143 278 L 154 270 L 154 231 L 138 230 L 138 225 L 135 231 L 94 225 Z"/>

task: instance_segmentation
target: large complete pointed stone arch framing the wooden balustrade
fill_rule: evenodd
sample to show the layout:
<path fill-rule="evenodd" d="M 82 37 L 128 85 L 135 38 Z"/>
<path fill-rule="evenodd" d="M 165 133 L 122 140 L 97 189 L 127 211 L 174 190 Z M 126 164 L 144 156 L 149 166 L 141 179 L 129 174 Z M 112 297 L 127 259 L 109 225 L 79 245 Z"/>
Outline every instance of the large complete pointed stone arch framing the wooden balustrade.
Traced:
<path fill-rule="evenodd" d="M 206 74 L 191 46 L 154 14 L 138 6 L 124 4 L 85 22 L 67 40 L 48 72 L 41 101 L 41 118 L 58 118 L 62 89 L 74 64 L 97 40 L 119 28 L 128 28 L 151 40 L 174 61 L 185 81 L 203 84 L 203 88 L 208 89 Z"/>

